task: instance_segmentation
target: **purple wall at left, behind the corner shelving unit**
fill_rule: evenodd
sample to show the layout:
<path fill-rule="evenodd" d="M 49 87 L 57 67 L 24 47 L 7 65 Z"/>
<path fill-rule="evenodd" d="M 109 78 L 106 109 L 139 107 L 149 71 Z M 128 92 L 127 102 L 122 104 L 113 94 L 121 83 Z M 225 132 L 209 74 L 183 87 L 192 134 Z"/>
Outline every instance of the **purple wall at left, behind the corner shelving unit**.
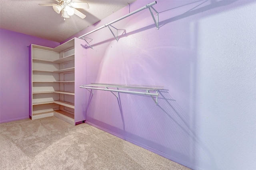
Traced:
<path fill-rule="evenodd" d="M 56 47 L 58 42 L 0 29 L 0 123 L 29 117 L 30 44 Z"/>

